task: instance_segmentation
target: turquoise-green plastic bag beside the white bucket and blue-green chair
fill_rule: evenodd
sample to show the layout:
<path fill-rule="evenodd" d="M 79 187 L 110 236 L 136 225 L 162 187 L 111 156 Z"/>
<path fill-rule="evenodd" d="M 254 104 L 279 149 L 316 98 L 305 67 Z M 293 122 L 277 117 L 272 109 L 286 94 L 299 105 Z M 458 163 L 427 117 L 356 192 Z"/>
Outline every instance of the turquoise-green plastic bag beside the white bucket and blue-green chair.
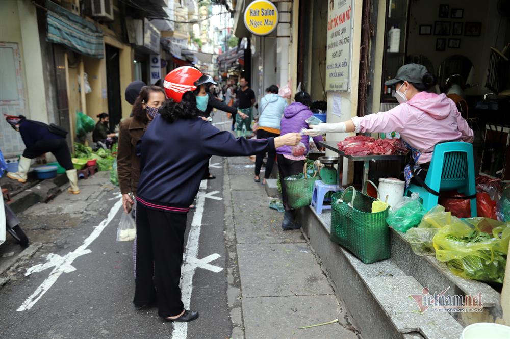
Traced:
<path fill-rule="evenodd" d="M 386 222 L 397 232 L 405 233 L 418 225 L 424 215 L 425 209 L 416 194 L 414 197 L 404 200 L 403 204 L 396 206 L 394 211 L 390 211 Z"/>

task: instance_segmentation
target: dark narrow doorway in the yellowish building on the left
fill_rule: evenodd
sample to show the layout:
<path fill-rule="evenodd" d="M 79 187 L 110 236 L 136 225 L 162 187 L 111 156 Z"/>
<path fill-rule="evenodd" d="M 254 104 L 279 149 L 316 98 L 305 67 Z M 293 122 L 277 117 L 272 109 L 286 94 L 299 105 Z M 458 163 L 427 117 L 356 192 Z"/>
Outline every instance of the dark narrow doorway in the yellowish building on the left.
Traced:
<path fill-rule="evenodd" d="M 122 117 L 120 101 L 120 68 L 119 49 L 105 45 L 106 57 L 106 85 L 108 91 L 108 114 L 110 115 L 110 130 L 114 131 L 115 126 Z"/>

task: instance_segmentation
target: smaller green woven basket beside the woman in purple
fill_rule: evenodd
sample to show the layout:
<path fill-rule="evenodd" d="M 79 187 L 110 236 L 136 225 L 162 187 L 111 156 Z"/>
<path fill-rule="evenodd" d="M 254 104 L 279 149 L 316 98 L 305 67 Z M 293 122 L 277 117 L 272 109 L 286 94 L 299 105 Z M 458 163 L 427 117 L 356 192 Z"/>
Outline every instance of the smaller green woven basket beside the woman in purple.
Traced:
<path fill-rule="evenodd" d="M 305 162 L 303 173 L 284 178 L 287 203 L 293 209 L 309 206 L 312 203 L 315 181 L 319 180 L 320 177 L 315 167 L 313 176 L 310 176 L 307 172 L 307 163 Z"/>

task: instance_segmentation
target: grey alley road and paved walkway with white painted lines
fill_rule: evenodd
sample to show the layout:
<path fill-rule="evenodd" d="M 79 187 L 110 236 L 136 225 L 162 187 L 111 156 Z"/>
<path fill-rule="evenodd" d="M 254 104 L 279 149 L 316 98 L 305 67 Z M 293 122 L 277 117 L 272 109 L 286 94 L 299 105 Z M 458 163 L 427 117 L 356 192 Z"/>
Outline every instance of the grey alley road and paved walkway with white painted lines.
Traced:
<path fill-rule="evenodd" d="M 218 112 L 215 124 L 230 127 L 225 119 Z M 217 178 L 202 181 L 188 215 L 181 280 L 198 320 L 173 325 L 156 308 L 133 307 L 133 244 L 116 241 L 120 195 L 102 172 L 80 180 L 80 195 L 19 216 L 32 245 L 0 276 L 0 337 L 359 337 L 302 232 L 281 230 L 283 214 L 253 182 L 253 163 L 213 157 L 211 172 Z M 0 246 L 1 260 L 12 246 Z"/>

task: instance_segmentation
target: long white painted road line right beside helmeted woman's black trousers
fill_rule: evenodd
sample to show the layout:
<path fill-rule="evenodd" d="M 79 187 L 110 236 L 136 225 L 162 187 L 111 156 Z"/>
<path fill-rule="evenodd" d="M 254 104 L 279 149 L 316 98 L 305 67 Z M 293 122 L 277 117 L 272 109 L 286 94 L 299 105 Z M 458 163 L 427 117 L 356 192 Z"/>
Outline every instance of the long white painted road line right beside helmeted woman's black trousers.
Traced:
<path fill-rule="evenodd" d="M 196 199 L 196 210 L 191 221 L 191 229 L 184 252 L 184 264 L 181 273 L 181 293 L 184 308 L 189 309 L 191 303 L 191 293 L 193 292 L 193 275 L 195 275 L 196 266 L 187 269 L 186 263 L 196 262 L 198 256 L 198 239 L 200 238 L 200 229 L 202 227 L 203 207 L 206 200 L 207 180 L 200 182 L 200 189 Z M 172 339 L 186 339 L 188 336 L 188 323 L 174 323 Z"/>

